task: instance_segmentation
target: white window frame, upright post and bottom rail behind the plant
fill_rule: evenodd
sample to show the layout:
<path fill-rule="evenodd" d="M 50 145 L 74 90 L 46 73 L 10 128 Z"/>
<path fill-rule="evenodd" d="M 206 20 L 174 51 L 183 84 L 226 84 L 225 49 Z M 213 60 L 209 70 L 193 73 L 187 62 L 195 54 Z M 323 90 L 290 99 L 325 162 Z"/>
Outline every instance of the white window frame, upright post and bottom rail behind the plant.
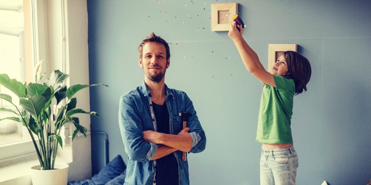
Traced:
<path fill-rule="evenodd" d="M 31 40 L 32 40 L 32 60 L 33 66 L 36 61 L 46 58 L 47 37 L 46 35 L 46 7 L 45 0 L 30 0 L 31 12 Z M 43 69 L 47 68 L 47 63 Z M 33 71 L 33 70 L 32 70 Z M 21 162 L 29 159 L 35 159 L 35 146 L 31 139 L 0 145 L 0 166 L 6 166 L 9 163 Z M 36 156 L 37 159 L 37 156 Z"/>

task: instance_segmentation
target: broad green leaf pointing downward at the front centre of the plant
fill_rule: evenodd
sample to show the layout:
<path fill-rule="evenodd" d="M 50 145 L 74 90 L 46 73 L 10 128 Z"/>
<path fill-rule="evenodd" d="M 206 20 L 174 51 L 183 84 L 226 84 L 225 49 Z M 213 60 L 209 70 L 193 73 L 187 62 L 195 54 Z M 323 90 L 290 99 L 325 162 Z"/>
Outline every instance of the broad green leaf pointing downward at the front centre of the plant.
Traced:
<path fill-rule="evenodd" d="M 44 96 L 36 95 L 30 98 L 21 98 L 19 99 L 19 104 L 28 112 L 31 116 L 38 120 L 42 110 L 45 107 L 46 99 Z"/>

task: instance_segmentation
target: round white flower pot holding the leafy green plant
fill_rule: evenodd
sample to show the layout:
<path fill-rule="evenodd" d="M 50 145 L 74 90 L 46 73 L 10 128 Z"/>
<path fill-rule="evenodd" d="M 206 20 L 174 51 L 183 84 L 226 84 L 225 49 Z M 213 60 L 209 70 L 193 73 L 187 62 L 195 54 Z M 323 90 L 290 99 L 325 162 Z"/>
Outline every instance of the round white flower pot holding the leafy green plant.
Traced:
<path fill-rule="evenodd" d="M 55 163 L 52 170 L 40 170 L 40 165 L 31 168 L 32 185 L 66 185 L 68 164 Z"/>

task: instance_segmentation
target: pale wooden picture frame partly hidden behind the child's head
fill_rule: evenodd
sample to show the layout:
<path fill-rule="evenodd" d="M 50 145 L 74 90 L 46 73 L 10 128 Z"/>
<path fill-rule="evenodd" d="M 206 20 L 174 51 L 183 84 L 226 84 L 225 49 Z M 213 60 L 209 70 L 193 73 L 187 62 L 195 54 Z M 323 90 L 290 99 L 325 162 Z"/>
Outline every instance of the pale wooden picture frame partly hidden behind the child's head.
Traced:
<path fill-rule="evenodd" d="M 268 72 L 272 70 L 277 59 L 286 51 L 298 52 L 298 44 L 268 44 Z"/>

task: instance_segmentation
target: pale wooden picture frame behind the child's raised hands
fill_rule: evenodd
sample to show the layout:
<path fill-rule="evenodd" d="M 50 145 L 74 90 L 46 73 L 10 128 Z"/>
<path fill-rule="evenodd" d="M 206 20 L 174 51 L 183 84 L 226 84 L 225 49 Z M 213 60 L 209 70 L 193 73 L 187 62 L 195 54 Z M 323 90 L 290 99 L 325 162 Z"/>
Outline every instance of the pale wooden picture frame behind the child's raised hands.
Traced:
<path fill-rule="evenodd" d="M 228 31 L 238 12 L 238 3 L 211 4 L 211 31 Z"/>

